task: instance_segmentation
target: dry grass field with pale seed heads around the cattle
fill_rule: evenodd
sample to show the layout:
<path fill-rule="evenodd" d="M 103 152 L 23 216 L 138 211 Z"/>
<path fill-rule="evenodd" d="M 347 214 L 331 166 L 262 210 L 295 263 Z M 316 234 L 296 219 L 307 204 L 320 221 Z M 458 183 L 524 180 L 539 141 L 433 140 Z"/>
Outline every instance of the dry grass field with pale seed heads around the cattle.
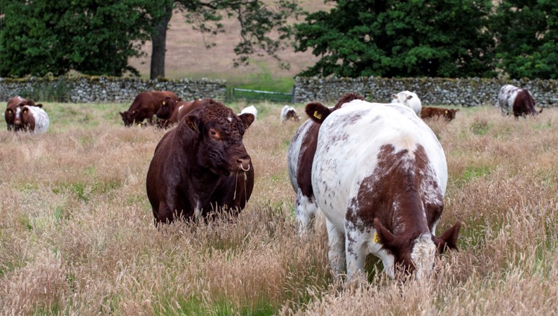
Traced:
<path fill-rule="evenodd" d="M 1 315 L 558 312 L 555 109 L 430 122 L 449 167 L 438 231 L 463 221 L 460 251 L 425 282 L 388 280 L 370 257 L 368 282 L 347 284 L 329 275 L 322 237 L 297 238 L 286 155 L 299 123 L 280 124 L 280 105 L 256 104 L 245 135 L 256 183 L 238 219 L 161 230 L 145 177 L 165 131 L 124 128 L 127 107 L 46 103 L 46 135 L 1 121 Z"/>

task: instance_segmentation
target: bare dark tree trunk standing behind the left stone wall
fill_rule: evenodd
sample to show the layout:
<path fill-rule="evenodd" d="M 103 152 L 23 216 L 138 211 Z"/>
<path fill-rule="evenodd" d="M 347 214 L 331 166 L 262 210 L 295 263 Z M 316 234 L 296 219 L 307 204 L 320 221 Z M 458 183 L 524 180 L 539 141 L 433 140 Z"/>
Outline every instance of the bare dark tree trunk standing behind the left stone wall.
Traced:
<path fill-rule="evenodd" d="M 151 71 L 149 78 L 165 76 L 165 53 L 167 51 L 167 27 L 172 17 L 172 7 L 168 9 L 161 20 L 155 23 L 154 32 L 151 33 Z"/>

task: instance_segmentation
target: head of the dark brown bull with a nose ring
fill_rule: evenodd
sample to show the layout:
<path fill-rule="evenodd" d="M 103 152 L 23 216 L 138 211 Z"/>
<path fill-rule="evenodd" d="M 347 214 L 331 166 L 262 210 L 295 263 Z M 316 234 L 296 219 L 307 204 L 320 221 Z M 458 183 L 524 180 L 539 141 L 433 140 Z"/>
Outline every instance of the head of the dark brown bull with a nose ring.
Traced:
<path fill-rule="evenodd" d="M 250 170 L 252 161 L 243 136 L 253 121 L 253 114 L 236 116 L 217 102 L 186 116 L 184 123 L 196 133 L 195 142 L 199 142 L 196 152 L 199 165 L 225 176 Z"/>

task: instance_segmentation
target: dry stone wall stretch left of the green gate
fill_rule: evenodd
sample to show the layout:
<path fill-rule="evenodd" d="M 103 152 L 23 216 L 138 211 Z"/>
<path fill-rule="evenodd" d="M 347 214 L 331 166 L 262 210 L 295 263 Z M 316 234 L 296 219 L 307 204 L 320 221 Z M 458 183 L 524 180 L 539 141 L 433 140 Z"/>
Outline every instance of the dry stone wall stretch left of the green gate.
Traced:
<path fill-rule="evenodd" d="M 64 88 L 57 87 L 64 85 Z M 226 81 L 224 80 L 144 80 L 140 78 L 111 78 L 91 76 L 79 78 L 29 78 L 0 79 L 0 99 L 7 101 L 15 95 L 36 95 L 37 89 L 49 87 L 62 91 L 68 102 L 132 102 L 140 92 L 170 90 L 184 100 L 210 97 L 224 102 Z M 37 101 L 41 101 L 38 99 Z"/>

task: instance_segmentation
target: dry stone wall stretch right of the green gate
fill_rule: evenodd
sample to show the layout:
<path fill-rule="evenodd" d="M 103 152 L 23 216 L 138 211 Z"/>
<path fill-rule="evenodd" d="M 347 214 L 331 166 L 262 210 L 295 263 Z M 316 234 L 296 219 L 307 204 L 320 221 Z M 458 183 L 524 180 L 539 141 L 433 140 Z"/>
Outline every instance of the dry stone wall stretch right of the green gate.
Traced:
<path fill-rule="evenodd" d="M 498 91 L 509 83 L 533 93 L 538 107 L 558 106 L 557 80 L 502 80 L 491 78 L 319 78 L 297 77 L 293 99 L 334 104 L 345 92 L 358 92 L 370 102 L 386 103 L 403 90 L 416 92 L 423 105 L 475 107 L 496 105 Z"/>

